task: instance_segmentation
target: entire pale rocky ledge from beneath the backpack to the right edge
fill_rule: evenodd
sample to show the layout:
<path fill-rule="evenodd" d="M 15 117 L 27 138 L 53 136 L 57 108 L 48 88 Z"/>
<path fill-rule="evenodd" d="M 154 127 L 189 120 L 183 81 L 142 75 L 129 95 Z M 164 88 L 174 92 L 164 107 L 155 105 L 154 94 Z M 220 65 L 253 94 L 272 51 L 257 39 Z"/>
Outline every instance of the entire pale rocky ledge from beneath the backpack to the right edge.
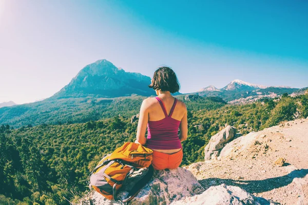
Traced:
<path fill-rule="evenodd" d="M 212 160 L 156 171 L 130 204 L 308 204 L 307 146 L 308 119 L 249 133 Z M 81 204 L 117 202 L 91 192 Z"/>

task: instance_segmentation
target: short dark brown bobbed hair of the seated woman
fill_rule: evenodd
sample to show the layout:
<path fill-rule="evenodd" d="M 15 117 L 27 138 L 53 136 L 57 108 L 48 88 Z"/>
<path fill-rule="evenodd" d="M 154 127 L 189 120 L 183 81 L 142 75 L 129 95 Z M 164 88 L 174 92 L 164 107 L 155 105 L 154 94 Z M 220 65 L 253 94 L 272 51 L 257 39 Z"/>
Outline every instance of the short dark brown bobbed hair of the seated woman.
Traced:
<path fill-rule="evenodd" d="M 176 73 L 169 67 L 159 67 L 151 80 L 149 88 L 154 90 L 169 91 L 170 93 L 179 92 L 180 84 Z"/>

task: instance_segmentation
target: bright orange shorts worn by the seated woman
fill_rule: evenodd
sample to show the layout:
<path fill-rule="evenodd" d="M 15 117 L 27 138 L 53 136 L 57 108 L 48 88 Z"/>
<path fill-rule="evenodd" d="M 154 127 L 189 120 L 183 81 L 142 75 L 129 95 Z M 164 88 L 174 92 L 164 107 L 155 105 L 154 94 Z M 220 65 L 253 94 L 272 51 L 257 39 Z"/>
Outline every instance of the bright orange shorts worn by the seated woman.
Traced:
<path fill-rule="evenodd" d="M 183 149 L 173 154 L 153 150 L 152 166 L 155 170 L 177 169 L 183 159 Z"/>

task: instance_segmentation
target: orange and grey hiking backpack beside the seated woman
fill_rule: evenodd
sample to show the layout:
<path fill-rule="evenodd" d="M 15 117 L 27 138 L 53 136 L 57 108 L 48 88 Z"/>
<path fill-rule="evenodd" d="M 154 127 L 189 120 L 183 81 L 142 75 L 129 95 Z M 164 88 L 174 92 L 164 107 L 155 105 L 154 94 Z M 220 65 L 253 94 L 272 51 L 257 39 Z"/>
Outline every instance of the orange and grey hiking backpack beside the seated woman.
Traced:
<path fill-rule="evenodd" d="M 153 176 L 151 166 L 153 151 L 134 142 L 125 144 L 105 156 L 90 174 L 90 188 L 110 200 L 122 203 L 131 200 Z M 146 175 L 129 191 L 128 197 L 118 199 L 119 189 L 125 185 L 126 179 L 140 168 L 149 168 Z"/>

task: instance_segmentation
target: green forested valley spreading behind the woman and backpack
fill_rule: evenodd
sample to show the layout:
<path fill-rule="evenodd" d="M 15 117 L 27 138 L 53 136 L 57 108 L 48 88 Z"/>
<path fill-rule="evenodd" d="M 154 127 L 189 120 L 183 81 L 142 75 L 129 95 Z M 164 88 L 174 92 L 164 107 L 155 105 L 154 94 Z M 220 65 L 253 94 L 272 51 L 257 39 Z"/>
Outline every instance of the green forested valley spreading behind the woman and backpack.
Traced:
<path fill-rule="evenodd" d="M 97 107 L 96 103 L 86 101 L 92 106 L 79 114 L 70 110 L 66 115 L 69 106 L 59 108 L 61 111 L 55 111 L 54 106 L 53 116 L 62 125 L 50 125 L 42 117 L 36 121 L 41 123 L 37 126 L 18 129 L 0 126 L 0 203 L 68 204 L 66 199 L 77 200 L 88 190 L 85 180 L 102 156 L 125 141 L 135 140 L 138 121 L 131 124 L 130 117 L 139 112 L 144 97 L 135 98 L 119 98 L 114 104 L 117 108 L 109 109 L 104 104 Z M 226 124 L 246 134 L 277 125 L 280 121 L 308 116 L 308 95 L 295 98 L 283 95 L 281 99 L 264 99 L 241 106 L 226 105 L 215 97 L 191 98 L 185 103 L 188 137 L 183 142 L 182 166 L 203 160 L 203 149 L 209 138 Z M 87 111 L 90 107 L 93 112 Z M 106 113 L 95 114 L 104 113 L 103 108 L 112 117 L 107 117 Z M 84 114 L 87 118 L 78 118 Z M 65 121 L 69 118 L 72 118 L 71 122 L 81 119 L 87 122 L 70 124 Z"/>

